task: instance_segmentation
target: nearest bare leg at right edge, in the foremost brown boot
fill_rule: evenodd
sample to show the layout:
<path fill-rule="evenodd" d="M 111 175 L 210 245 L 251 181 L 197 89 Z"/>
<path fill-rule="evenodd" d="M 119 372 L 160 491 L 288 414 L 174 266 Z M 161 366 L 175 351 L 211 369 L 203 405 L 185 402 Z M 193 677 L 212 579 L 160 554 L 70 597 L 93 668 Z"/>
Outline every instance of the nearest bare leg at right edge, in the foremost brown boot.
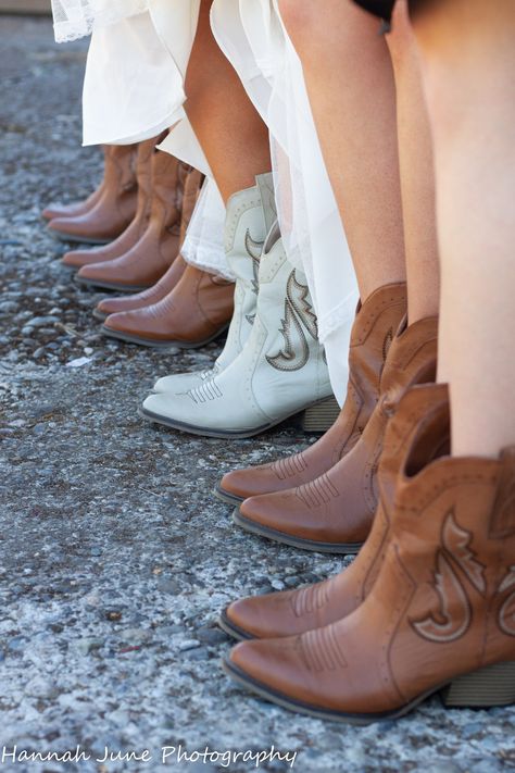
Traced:
<path fill-rule="evenodd" d="M 429 3 L 415 30 L 435 138 L 453 452 L 497 456 L 515 442 L 515 5 Z"/>

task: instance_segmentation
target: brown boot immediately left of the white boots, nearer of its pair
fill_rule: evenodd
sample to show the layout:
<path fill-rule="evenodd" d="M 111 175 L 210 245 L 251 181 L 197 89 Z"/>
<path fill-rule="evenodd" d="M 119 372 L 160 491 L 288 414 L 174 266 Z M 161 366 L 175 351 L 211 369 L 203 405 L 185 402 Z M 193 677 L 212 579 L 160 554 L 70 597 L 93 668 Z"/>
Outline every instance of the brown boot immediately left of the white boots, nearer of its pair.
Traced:
<path fill-rule="evenodd" d="M 186 265 L 165 298 L 143 309 L 111 314 L 102 329 L 129 335 L 135 341 L 140 338 L 176 346 L 201 346 L 226 328 L 233 314 L 233 297 L 231 282 Z"/>

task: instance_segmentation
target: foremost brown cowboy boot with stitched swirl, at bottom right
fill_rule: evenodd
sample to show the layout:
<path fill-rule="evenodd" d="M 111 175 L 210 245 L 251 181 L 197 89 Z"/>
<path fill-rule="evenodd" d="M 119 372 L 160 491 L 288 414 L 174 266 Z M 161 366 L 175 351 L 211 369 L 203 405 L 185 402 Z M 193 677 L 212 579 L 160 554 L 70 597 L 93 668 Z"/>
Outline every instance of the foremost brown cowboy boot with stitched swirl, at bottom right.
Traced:
<path fill-rule="evenodd" d="M 261 697 L 352 724 L 402 716 L 435 693 L 447 707 L 515 702 L 515 447 L 435 460 L 425 429 L 365 601 L 330 625 L 233 650 L 228 673 Z"/>

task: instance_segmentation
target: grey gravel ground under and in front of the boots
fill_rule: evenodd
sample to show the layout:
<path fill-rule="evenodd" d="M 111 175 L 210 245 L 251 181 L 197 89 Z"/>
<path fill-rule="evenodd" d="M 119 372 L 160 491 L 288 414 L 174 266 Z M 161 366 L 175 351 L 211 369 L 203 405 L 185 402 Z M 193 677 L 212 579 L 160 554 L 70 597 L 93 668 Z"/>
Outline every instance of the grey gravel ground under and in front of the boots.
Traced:
<path fill-rule="evenodd" d="M 514 709 L 444 711 L 434 700 L 356 730 L 255 700 L 221 672 L 226 602 L 341 563 L 238 532 L 212 496 L 222 472 L 310 438 L 286 428 L 222 444 L 143 424 L 136 407 L 154 378 L 204 367 L 216 346 L 174 354 L 103 339 L 91 317 L 101 296 L 60 264 L 39 212 L 87 195 L 101 170 L 98 150 L 79 145 L 85 50 L 54 46 L 47 20 L 0 17 L 0 769 L 151 772 L 162 747 L 179 745 L 274 746 L 297 751 L 302 773 L 515 768 Z M 2 763 L 14 745 L 79 745 L 90 759 Z M 98 762 L 105 746 L 152 759 Z M 255 769 L 173 755 L 167 766 Z"/>

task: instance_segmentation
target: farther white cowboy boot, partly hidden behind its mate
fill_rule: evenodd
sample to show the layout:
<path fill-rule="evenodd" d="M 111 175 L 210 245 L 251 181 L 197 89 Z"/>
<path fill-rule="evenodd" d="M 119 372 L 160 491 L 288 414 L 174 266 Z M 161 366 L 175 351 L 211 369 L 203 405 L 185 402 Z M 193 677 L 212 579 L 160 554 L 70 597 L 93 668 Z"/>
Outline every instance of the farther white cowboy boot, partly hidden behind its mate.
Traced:
<path fill-rule="evenodd" d="M 250 335 L 258 301 L 261 250 L 276 220 L 272 173 L 258 175 L 255 186 L 234 194 L 227 202 L 225 254 L 236 276 L 235 310 L 224 349 L 209 371 L 178 373 L 159 378 L 154 392 L 185 392 L 221 373 L 240 353 Z"/>

